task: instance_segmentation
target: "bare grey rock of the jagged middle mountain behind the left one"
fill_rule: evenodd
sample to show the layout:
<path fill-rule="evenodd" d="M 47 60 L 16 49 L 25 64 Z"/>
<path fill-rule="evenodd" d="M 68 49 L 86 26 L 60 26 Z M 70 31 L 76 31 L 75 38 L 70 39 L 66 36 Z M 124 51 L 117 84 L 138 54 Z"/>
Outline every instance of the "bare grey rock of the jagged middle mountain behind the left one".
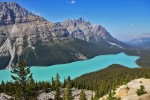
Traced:
<path fill-rule="evenodd" d="M 70 35 L 74 38 L 85 40 L 96 44 L 110 44 L 119 48 L 126 48 L 127 45 L 113 38 L 110 33 L 102 26 L 93 26 L 90 22 L 79 18 L 77 20 L 66 20 L 61 23 Z"/>

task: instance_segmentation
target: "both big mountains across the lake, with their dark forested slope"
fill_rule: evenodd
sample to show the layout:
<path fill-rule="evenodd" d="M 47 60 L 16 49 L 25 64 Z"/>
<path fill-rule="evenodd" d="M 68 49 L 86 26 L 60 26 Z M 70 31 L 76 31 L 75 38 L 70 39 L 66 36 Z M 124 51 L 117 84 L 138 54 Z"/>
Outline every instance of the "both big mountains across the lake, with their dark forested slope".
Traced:
<path fill-rule="evenodd" d="M 129 47 L 82 18 L 50 23 L 15 2 L 0 2 L 0 69 L 20 58 L 29 66 L 48 66 Z"/>

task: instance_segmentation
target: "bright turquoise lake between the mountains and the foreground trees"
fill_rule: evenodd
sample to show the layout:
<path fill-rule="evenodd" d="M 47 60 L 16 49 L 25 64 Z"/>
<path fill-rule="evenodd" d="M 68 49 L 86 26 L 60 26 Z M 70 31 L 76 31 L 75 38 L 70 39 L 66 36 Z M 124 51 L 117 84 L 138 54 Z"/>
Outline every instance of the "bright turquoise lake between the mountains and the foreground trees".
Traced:
<path fill-rule="evenodd" d="M 138 67 L 136 60 L 137 56 L 128 56 L 125 53 L 100 55 L 92 59 L 76 61 L 67 64 L 58 64 L 48 67 L 31 67 L 31 73 L 36 81 L 50 81 L 52 76 L 55 77 L 58 73 L 60 80 L 70 76 L 72 79 L 93 71 L 97 71 L 111 64 L 121 64 L 130 68 Z M 10 81 L 11 73 L 10 70 L 0 70 L 0 82 Z"/>

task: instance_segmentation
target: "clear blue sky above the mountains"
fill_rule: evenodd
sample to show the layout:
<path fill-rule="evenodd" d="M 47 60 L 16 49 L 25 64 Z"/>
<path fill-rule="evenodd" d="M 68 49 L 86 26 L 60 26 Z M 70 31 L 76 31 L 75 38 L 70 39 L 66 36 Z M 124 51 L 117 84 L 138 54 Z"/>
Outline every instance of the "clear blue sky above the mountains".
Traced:
<path fill-rule="evenodd" d="M 79 17 L 104 26 L 112 36 L 128 41 L 150 33 L 150 0 L 1 0 L 16 1 L 50 22 Z"/>

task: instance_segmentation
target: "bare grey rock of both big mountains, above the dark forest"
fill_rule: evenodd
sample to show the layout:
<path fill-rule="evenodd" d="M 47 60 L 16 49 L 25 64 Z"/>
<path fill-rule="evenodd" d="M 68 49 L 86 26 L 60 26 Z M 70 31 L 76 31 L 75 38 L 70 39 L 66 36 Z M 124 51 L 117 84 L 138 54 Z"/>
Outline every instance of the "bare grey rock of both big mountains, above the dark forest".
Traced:
<path fill-rule="evenodd" d="M 35 49 L 38 44 L 61 42 L 71 37 L 105 46 L 126 47 L 102 26 L 92 26 L 82 18 L 50 23 L 15 2 L 0 2 L 0 57 L 11 56 L 3 68 L 13 66 L 27 47 Z"/>

